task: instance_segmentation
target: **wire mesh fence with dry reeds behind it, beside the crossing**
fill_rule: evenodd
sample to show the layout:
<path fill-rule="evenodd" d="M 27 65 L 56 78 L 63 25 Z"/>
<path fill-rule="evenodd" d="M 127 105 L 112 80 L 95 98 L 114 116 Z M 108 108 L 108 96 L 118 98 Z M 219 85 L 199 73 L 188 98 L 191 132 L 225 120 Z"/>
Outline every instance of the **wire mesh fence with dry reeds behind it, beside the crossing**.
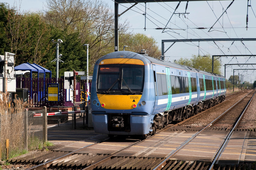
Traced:
<path fill-rule="evenodd" d="M 5 160 L 43 145 L 47 139 L 47 121 L 44 117 L 34 117 L 36 113 L 43 114 L 45 110 L 0 115 L 1 159 Z"/>

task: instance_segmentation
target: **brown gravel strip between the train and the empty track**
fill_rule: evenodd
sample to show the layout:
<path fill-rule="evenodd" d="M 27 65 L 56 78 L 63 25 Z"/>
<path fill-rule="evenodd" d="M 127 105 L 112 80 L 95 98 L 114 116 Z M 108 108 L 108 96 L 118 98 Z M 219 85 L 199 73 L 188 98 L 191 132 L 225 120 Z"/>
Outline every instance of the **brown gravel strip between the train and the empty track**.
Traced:
<path fill-rule="evenodd" d="M 209 123 L 211 123 L 214 119 L 216 119 L 223 112 L 228 110 L 231 106 L 233 106 L 236 102 L 238 102 L 240 99 L 242 99 L 248 93 L 247 92 L 241 93 L 228 101 L 222 102 L 221 104 L 217 105 L 216 107 L 212 107 L 212 108 L 206 110 L 203 114 L 185 122 L 183 124 L 183 126 L 204 127 L 204 126 L 208 125 Z"/>

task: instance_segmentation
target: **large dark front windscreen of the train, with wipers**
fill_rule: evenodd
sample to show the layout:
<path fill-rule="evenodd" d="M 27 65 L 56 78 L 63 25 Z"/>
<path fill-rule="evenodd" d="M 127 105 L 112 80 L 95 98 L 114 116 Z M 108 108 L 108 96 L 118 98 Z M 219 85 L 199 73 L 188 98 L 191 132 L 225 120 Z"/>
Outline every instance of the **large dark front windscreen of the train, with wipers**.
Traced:
<path fill-rule="evenodd" d="M 99 94 L 142 94 L 144 65 L 100 65 L 97 79 Z"/>

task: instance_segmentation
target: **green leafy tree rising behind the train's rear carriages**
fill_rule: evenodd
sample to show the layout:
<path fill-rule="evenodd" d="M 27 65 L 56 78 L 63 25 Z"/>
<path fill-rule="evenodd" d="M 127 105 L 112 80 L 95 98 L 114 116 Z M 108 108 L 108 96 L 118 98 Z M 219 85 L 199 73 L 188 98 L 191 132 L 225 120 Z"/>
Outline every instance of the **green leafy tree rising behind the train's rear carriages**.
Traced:
<path fill-rule="evenodd" d="M 174 62 L 174 60 L 173 60 Z M 208 54 L 207 56 L 196 56 L 193 55 L 191 59 L 180 58 L 175 63 L 190 66 L 195 69 L 212 72 L 212 57 Z M 221 65 L 219 60 L 214 61 L 213 73 L 221 74 Z"/>

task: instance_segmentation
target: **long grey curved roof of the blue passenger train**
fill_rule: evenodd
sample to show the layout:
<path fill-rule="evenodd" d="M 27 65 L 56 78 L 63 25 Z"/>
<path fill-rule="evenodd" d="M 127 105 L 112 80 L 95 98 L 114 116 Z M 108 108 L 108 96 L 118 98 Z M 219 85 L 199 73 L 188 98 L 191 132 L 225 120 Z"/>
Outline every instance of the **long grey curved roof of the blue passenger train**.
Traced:
<path fill-rule="evenodd" d="M 109 53 L 109 54 L 103 56 L 102 59 L 116 58 L 120 55 L 129 56 L 131 58 L 137 58 L 137 59 L 142 59 L 142 60 L 144 59 L 144 62 L 147 62 L 147 63 L 148 63 L 148 61 L 146 61 L 145 59 L 148 59 L 149 62 L 151 62 L 151 63 L 155 63 L 155 64 L 159 64 L 159 65 L 174 67 L 174 68 L 181 69 L 181 70 L 194 71 L 194 72 L 207 74 L 207 75 L 211 75 L 211 76 L 223 77 L 222 75 L 219 75 L 219 74 L 210 73 L 210 72 L 203 71 L 203 70 L 198 70 L 198 69 L 195 69 L 195 68 L 192 68 L 192 67 L 189 67 L 189 66 L 183 66 L 183 65 L 180 65 L 180 64 L 177 64 L 177 63 L 172 63 L 172 62 L 169 62 L 169 61 L 159 60 L 157 58 L 153 58 L 153 57 L 148 56 L 146 53 L 135 53 L 135 52 L 131 52 L 131 51 L 117 51 L 117 52 Z"/>

